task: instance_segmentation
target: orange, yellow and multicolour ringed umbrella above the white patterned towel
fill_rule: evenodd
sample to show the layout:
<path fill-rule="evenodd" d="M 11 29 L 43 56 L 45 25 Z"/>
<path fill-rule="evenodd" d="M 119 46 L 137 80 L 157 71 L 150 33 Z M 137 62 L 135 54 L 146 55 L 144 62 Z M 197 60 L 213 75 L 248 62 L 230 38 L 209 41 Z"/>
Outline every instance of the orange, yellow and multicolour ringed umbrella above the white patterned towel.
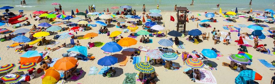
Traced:
<path fill-rule="evenodd" d="M 184 62 L 190 68 L 199 69 L 204 67 L 204 63 L 197 58 L 188 58 Z"/>

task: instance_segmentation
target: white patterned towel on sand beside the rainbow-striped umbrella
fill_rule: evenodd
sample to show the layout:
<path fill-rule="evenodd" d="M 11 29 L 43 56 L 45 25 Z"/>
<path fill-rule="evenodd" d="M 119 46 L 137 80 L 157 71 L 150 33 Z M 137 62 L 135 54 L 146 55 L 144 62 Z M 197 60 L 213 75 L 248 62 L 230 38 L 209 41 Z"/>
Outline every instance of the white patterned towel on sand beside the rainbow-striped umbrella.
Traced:
<path fill-rule="evenodd" d="M 217 84 L 216 78 L 214 77 L 211 71 L 207 71 L 203 68 L 199 70 L 201 73 L 201 80 L 196 80 L 196 82 L 204 84 Z"/>

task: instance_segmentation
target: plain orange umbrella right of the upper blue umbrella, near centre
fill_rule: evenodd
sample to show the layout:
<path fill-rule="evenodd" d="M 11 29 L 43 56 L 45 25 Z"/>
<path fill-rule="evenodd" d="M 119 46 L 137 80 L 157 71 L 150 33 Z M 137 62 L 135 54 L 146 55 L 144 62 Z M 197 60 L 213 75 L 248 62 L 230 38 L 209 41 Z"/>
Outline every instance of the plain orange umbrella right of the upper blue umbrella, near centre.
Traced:
<path fill-rule="evenodd" d="M 129 38 L 129 37 L 126 37 L 126 38 L 122 38 L 120 39 L 117 44 L 119 44 L 120 46 L 131 46 L 131 45 L 135 45 L 137 44 L 137 40 L 135 40 L 134 38 Z"/>

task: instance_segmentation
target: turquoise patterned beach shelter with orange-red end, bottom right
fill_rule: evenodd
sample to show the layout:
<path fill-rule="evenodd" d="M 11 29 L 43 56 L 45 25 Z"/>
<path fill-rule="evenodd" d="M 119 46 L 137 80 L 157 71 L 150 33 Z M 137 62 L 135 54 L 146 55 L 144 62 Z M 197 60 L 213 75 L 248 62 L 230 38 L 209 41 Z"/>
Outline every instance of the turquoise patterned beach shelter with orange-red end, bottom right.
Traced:
<path fill-rule="evenodd" d="M 262 80 L 262 75 L 252 70 L 242 70 L 235 78 L 235 84 L 254 84 L 254 80 Z"/>

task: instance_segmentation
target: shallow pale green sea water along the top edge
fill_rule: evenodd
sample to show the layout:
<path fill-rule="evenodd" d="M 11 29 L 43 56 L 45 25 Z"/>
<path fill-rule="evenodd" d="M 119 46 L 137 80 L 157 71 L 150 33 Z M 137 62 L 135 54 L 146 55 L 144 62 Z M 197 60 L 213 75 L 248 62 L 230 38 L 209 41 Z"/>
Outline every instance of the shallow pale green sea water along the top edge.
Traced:
<path fill-rule="evenodd" d="M 190 11 L 218 11 L 217 4 L 223 11 L 229 11 L 231 9 L 238 10 L 260 10 L 275 8 L 275 0 L 253 0 L 252 5 L 249 5 L 250 0 L 194 0 L 194 5 L 190 5 L 192 0 L 26 0 L 27 5 L 20 5 L 21 0 L 0 0 L 0 6 L 13 6 L 13 10 L 48 10 L 53 11 L 54 7 L 59 8 L 59 5 L 51 5 L 51 3 L 60 3 L 64 11 L 75 11 L 78 8 L 79 11 L 85 12 L 88 9 L 88 5 L 95 5 L 96 12 L 103 12 L 103 9 L 107 11 L 115 11 L 123 9 L 110 9 L 113 6 L 130 5 L 132 9 L 142 11 L 142 5 L 145 4 L 146 11 L 150 9 L 156 9 L 156 5 L 159 4 L 159 9 L 162 11 L 173 11 L 174 6 L 177 5 L 187 7 Z M 3 12 L 4 10 L 1 10 Z"/>

